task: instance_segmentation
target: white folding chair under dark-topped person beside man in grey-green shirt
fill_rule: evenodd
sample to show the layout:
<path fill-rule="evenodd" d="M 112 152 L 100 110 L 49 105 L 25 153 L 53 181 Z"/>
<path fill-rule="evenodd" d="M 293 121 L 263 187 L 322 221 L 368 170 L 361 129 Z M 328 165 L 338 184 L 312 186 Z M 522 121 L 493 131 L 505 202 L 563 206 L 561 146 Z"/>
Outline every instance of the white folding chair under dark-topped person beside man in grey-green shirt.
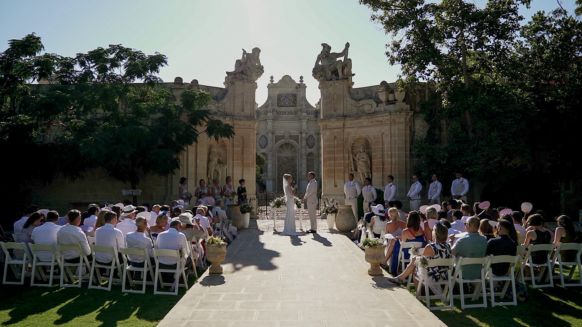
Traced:
<path fill-rule="evenodd" d="M 495 305 L 517 305 L 517 296 L 515 291 L 515 268 L 517 266 L 517 262 L 519 262 L 519 255 L 490 255 L 489 262 L 487 263 L 487 275 L 485 279 L 489 282 L 489 290 L 491 291 L 491 307 L 495 307 Z M 493 269 L 491 268 L 492 264 L 502 264 L 508 263 L 509 269 L 508 273 L 503 276 L 496 276 L 493 274 Z M 495 286 L 498 282 L 505 282 L 503 285 L 503 289 L 501 292 L 495 293 Z M 505 297 L 509 285 L 512 287 L 512 294 L 513 294 L 513 301 L 512 302 L 495 302 L 495 296 L 501 296 L 501 298 Z"/>

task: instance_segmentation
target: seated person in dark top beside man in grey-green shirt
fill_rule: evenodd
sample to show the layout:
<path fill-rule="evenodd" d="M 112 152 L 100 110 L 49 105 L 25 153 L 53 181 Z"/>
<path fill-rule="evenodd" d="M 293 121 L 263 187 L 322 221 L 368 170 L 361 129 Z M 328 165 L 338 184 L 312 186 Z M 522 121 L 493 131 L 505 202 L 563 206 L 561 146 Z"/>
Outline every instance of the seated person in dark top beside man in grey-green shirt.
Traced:
<path fill-rule="evenodd" d="M 495 230 L 499 236 L 487 241 L 485 255 L 516 255 L 517 232 L 513 227 L 513 223 L 505 219 L 499 219 Z M 491 264 L 491 270 L 495 276 L 505 276 L 509 271 L 509 263 Z"/>

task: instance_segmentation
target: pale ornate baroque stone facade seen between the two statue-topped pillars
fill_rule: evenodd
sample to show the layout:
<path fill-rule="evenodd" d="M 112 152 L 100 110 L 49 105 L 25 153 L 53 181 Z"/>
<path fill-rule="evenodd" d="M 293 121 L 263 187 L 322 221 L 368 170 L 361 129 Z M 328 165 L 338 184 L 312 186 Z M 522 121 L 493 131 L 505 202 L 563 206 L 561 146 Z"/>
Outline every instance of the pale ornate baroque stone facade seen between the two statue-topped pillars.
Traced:
<path fill-rule="evenodd" d="M 267 158 L 263 179 L 267 191 L 282 191 L 283 174 L 290 173 L 299 189 L 307 187 L 307 173 L 321 180 L 320 112 L 306 99 L 303 76 L 296 83 L 285 75 L 271 76 L 267 101 L 257 108 L 257 151 Z"/>

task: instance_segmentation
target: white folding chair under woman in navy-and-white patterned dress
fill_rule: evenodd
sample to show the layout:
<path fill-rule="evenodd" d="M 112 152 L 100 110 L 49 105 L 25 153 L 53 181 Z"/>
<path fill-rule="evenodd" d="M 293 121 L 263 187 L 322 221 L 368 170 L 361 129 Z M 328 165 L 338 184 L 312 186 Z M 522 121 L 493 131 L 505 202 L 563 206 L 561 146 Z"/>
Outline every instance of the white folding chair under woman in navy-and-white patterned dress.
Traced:
<path fill-rule="evenodd" d="M 451 311 L 455 311 L 455 304 L 453 303 L 453 299 L 451 298 L 452 290 L 453 290 L 453 268 L 455 267 L 455 258 L 449 259 L 431 259 L 428 260 L 428 266 L 446 266 L 447 267 L 447 279 L 441 280 L 440 282 L 434 282 L 433 280 L 424 280 L 424 273 L 421 273 L 418 276 L 418 287 L 416 288 L 416 298 L 421 297 L 422 288 L 424 285 L 424 300 L 427 302 L 426 306 L 428 310 L 446 310 L 450 309 Z M 418 268 L 422 269 L 422 268 Z M 437 307 L 431 307 L 431 300 L 439 299 L 441 300 L 441 296 L 438 294 L 430 295 L 430 288 L 428 283 L 431 283 L 434 287 L 437 288 L 438 292 L 442 293 L 442 296 L 445 297 L 445 303 L 449 303 L 449 305 L 441 305 Z"/>

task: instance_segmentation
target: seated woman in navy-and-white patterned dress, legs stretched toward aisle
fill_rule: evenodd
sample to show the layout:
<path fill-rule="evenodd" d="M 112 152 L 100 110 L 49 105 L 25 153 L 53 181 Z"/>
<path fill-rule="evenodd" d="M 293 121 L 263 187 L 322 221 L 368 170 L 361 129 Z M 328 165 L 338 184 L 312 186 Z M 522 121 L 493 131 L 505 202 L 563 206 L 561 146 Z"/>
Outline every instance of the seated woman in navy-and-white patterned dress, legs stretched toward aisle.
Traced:
<path fill-rule="evenodd" d="M 445 219 L 446 221 L 446 219 Z M 433 243 L 429 243 L 427 246 L 424 247 L 424 251 L 421 255 L 424 255 L 429 260 L 431 259 L 449 259 L 452 258 L 451 250 L 449 243 L 446 243 L 448 233 L 446 227 L 443 225 L 442 222 L 437 222 L 434 226 L 434 230 L 432 233 L 432 241 Z M 407 278 L 411 273 L 414 272 L 414 286 L 418 287 L 418 276 L 419 276 L 419 269 L 415 264 L 416 257 L 412 257 L 410 260 L 410 264 L 406 266 L 406 269 L 400 275 L 396 277 L 388 277 L 388 280 L 396 285 L 402 284 L 403 280 Z M 427 278 L 430 278 L 429 282 L 442 282 L 443 280 L 447 280 L 448 276 L 448 266 L 432 266 L 427 267 Z M 415 287 L 415 288 L 416 288 Z"/>

